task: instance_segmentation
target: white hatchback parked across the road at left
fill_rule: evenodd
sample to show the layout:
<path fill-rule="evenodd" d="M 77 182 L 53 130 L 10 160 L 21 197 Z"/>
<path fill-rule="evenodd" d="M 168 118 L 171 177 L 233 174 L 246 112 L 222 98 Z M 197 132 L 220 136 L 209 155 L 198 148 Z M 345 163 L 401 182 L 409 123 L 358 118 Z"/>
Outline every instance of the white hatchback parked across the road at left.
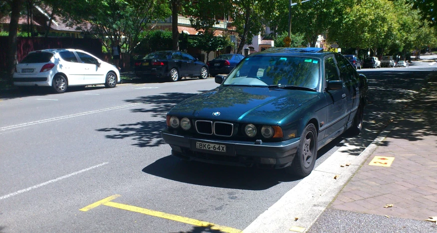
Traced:
<path fill-rule="evenodd" d="M 115 87 L 120 81 L 120 72 L 114 65 L 78 49 L 29 52 L 13 74 L 15 86 L 51 86 L 56 93 L 65 92 L 67 86 Z"/>

